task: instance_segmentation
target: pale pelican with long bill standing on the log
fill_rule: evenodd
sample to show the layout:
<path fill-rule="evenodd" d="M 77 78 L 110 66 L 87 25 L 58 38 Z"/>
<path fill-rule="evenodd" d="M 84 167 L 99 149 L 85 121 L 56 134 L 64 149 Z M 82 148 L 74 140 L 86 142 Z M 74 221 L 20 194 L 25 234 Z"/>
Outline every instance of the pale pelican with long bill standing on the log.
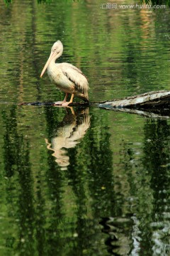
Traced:
<path fill-rule="evenodd" d="M 50 56 L 42 69 L 42 75 L 47 69 L 48 76 L 51 82 L 57 85 L 57 88 L 65 92 L 64 100 L 55 102 L 55 105 L 62 105 L 67 107 L 73 102 L 74 96 L 81 98 L 85 102 L 89 102 L 89 82 L 84 73 L 70 63 L 55 63 L 57 58 L 60 58 L 63 52 L 63 45 L 60 40 L 56 41 L 52 48 Z M 71 94 L 69 102 L 67 102 L 68 95 Z"/>

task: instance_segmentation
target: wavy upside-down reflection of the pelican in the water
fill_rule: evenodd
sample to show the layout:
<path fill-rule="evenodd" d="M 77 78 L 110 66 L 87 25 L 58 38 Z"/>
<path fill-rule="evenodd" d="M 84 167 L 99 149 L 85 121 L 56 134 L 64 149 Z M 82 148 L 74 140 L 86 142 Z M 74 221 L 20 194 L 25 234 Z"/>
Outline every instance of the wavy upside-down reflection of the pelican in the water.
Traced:
<path fill-rule="evenodd" d="M 55 156 L 55 161 L 62 167 L 69 165 L 67 149 L 76 146 L 90 127 L 89 109 L 81 110 L 77 114 L 74 114 L 72 108 L 71 110 L 72 114 L 67 112 L 59 127 L 57 127 L 55 137 L 52 138 L 51 143 L 45 139 L 47 149 L 54 151 L 52 156 Z"/>

